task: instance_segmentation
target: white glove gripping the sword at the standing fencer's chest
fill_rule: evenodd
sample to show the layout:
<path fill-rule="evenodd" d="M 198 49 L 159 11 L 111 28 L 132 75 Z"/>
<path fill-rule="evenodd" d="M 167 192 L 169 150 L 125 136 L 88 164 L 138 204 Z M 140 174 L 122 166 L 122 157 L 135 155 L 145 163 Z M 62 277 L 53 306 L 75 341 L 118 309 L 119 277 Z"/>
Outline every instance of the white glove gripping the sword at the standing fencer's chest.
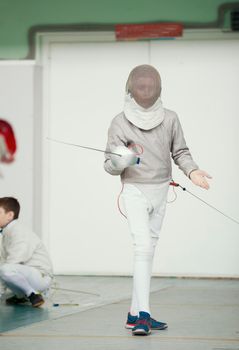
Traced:
<path fill-rule="evenodd" d="M 110 156 L 113 166 L 117 169 L 123 170 L 138 163 L 137 155 L 125 146 L 118 146 L 112 152 L 121 155 L 111 154 Z"/>

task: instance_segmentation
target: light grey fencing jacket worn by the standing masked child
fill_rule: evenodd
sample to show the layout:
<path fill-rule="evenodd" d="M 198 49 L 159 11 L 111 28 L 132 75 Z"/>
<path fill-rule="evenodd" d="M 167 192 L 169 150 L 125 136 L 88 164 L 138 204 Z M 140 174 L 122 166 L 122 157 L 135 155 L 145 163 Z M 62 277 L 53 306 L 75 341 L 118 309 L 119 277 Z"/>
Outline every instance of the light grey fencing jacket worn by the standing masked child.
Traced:
<path fill-rule="evenodd" d="M 186 145 L 183 130 L 175 112 L 165 109 L 162 123 L 151 130 L 143 130 L 128 121 L 124 113 L 118 114 L 108 131 L 107 151 L 119 145 L 140 144 L 143 154 L 140 163 L 119 170 L 114 167 L 110 155 L 105 153 L 105 170 L 111 175 L 121 175 L 123 183 L 164 183 L 172 179 L 171 157 L 174 163 L 189 176 L 198 169 Z"/>

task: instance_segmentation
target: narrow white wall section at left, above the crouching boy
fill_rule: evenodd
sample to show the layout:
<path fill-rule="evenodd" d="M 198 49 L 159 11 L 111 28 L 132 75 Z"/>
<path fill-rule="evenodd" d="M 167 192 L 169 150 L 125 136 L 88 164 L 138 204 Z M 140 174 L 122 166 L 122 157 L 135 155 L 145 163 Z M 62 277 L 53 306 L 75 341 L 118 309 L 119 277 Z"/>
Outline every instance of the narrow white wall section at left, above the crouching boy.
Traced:
<path fill-rule="evenodd" d="M 21 204 L 20 218 L 33 224 L 33 61 L 0 62 L 0 119 L 12 124 L 17 153 L 11 164 L 0 163 L 0 197 L 14 196 Z"/>

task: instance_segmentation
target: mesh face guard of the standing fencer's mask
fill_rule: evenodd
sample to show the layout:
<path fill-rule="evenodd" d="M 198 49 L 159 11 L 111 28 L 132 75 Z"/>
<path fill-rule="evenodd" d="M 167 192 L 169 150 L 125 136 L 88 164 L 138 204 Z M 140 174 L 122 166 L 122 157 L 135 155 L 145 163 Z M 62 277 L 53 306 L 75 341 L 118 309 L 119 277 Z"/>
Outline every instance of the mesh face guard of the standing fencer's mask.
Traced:
<path fill-rule="evenodd" d="M 159 72 L 147 64 L 135 67 L 129 74 L 126 93 L 130 94 L 141 107 L 150 108 L 161 93 Z"/>

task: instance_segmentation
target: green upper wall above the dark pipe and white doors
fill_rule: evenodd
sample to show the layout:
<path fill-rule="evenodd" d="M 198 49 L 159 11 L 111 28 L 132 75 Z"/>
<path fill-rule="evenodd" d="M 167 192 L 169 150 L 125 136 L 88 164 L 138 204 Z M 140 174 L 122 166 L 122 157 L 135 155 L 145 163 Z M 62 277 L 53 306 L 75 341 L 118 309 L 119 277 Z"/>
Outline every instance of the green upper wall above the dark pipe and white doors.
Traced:
<path fill-rule="evenodd" d="M 207 23 L 227 0 L 0 0 L 0 59 L 28 54 L 35 25 L 152 21 Z"/>

